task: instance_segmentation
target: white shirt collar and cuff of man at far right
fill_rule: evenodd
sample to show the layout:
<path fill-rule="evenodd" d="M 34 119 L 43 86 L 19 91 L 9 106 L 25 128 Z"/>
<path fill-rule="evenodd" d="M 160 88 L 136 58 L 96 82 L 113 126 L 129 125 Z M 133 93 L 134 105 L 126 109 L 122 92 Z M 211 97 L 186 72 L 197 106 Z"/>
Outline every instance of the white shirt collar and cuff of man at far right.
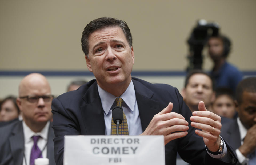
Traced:
<path fill-rule="evenodd" d="M 241 145 L 243 145 L 243 139 L 245 138 L 246 134 L 247 134 L 247 129 L 245 128 L 245 126 L 243 126 L 242 122 L 240 121 L 240 118 L 237 118 L 237 124 L 238 124 L 238 128 L 239 128 L 239 132 L 240 132 L 240 140 L 241 140 Z M 237 158 L 240 164 L 247 164 L 249 161 L 249 158 L 246 158 L 241 152 L 240 150 L 237 148 L 235 150 L 235 153 L 237 154 Z"/>

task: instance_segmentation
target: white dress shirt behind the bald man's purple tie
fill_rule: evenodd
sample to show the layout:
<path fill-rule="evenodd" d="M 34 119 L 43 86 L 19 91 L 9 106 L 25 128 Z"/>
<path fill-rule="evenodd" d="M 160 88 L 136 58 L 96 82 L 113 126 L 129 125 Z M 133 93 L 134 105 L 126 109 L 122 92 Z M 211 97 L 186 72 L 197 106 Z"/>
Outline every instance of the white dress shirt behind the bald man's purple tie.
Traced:
<path fill-rule="evenodd" d="M 46 158 L 47 156 L 47 138 L 48 138 L 48 130 L 49 130 L 50 121 L 47 122 L 45 127 L 40 132 L 32 131 L 24 121 L 22 121 L 23 132 L 24 132 L 24 155 L 23 155 L 23 165 L 27 165 L 30 163 L 30 154 L 31 149 L 34 145 L 34 141 L 32 136 L 40 135 L 41 138 L 37 141 L 37 146 L 42 151 L 42 157 Z"/>

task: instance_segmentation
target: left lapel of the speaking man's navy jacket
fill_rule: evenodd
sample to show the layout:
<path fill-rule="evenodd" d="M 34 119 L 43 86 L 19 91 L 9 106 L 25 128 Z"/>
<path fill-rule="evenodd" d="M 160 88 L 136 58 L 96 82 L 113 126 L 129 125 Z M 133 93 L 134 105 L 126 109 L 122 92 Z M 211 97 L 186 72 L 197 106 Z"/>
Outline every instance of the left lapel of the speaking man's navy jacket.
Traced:
<path fill-rule="evenodd" d="M 83 96 L 84 104 L 80 107 L 86 135 L 105 135 L 104 111 L 97 88 L 97 82 L 92 84 Z"/>

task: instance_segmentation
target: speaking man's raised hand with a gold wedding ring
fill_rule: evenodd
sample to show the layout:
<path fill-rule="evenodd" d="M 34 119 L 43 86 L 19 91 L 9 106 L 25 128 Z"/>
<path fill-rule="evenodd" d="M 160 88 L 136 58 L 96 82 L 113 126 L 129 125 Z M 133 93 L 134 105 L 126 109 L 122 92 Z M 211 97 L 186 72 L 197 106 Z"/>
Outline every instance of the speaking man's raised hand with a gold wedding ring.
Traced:
<path fill-rule="evenodd" d="M 191 126 L 202 130 L 195 130 L 195 133 L 203 137 L 203 141 L 210 151 L 216 152 L 221 142 L 219 137 L 221 133 L 221 117 L 207 111 L 203 101 L 199 102 L 198 109 L 199 111 L 194 111 L 192 113 L 193 116 L 190 117 Z"/>

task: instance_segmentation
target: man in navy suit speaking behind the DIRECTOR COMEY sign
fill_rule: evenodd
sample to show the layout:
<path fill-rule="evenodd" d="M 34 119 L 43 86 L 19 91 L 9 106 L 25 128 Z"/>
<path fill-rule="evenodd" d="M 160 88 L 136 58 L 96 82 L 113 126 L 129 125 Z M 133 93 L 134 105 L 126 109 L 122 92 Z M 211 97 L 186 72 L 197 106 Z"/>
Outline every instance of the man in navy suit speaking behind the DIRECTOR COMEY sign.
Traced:
<path fill-rule="evenodd" d="M 219 137 L 221 118 L 207 111 L 203 102 L 191 116 L 176 88 L 131 77 L 134 51 L 124 21 L 95 19 L 85 27 L 81 41 L 87 68 L 96 80 L 53 100 L 56 164 L 63 164 L 65 135 L 110 135 L 116 98 L 123 100 L 129 135 L 164 135 L 166 164 L 176 163 L 177 151 L 192 164 L 236 161 Z"/>

